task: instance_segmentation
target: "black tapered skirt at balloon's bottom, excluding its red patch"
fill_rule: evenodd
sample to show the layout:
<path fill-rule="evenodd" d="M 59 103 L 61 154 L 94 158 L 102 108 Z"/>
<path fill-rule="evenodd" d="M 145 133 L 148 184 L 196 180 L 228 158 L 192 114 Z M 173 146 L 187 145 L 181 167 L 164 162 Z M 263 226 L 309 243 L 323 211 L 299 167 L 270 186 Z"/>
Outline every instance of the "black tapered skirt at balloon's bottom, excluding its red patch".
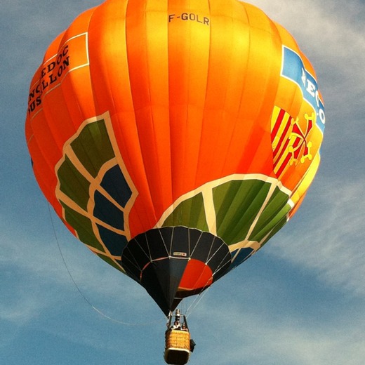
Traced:
<path fill-rule="evenodd" d="M 213 281 L 225 274 L 231 264 L 230 251 L 222 239 L 187 227 L 156 228 L 139 234 L 124 248 L 121 264 L 167 315 L 183 296 L 196 294 L 178 293 L 190 259 L 207 265 Z"/>

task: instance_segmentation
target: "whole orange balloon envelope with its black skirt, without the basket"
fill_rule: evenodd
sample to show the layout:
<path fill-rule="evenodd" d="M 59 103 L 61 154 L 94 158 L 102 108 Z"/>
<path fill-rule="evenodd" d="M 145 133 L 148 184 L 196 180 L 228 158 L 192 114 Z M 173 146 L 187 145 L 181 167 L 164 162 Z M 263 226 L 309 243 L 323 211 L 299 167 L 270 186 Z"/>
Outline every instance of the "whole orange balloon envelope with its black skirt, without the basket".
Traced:
<path fill-rule="evenodd" d="M 34 175 L 68 229 L 168 315 L 296 213 L 324 102 L 293 37 L 237 0 L 107 0 L 29 89 Z"/>

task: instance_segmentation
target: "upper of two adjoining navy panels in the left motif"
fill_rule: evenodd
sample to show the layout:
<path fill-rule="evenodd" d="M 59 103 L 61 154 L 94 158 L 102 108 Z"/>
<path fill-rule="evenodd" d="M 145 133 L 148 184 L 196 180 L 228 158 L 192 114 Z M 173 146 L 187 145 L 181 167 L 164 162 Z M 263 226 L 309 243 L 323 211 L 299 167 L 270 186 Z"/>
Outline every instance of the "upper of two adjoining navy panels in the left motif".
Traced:
<path fill-rule="evenodd" d="M 119 205 L 123 206 L 123 208 L 131 198 L 132 191 L 126 182 L 119 165 L 110 168 L 110 170 L 105 173 L 100 186 L 102 186 Z"/>

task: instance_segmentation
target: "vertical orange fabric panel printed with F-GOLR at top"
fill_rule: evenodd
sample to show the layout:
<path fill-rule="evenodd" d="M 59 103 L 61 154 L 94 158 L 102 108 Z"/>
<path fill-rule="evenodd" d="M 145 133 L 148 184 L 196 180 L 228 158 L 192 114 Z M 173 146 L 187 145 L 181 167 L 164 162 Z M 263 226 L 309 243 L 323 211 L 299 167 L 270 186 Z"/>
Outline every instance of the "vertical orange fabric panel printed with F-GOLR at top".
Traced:
<path fill-rule="evenodd" d="M 194 189 L 199 173 L 210 52 L 209 16 L 208 1 L 168 1 L 173 200 Z"/>

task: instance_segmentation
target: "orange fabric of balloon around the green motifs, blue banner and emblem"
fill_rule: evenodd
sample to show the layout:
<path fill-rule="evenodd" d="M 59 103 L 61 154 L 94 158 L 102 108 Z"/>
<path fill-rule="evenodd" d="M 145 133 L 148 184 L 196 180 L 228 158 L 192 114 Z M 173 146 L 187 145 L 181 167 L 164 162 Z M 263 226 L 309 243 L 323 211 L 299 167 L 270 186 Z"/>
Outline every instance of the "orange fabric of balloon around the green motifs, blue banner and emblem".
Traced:
<path fill-rule="evenodd" d="M 30 88 L 25 131 L 41 190 L 62 216 L 54 195 L 62 147 L 105 112 L 138 192 L 131 237 L 204 183 L 237 173 L 274 177 L 273 108 L 301 128 L 312 113 L 300 88 L 281 77 L 283 45 L 315 77 L 285 29 L 237 0 L 107 0 L 86 11 L 53 41 Z M 313 128 L 308 138 L 317 158 L 280 177 L 298 204 L 323 135 Z"/>

